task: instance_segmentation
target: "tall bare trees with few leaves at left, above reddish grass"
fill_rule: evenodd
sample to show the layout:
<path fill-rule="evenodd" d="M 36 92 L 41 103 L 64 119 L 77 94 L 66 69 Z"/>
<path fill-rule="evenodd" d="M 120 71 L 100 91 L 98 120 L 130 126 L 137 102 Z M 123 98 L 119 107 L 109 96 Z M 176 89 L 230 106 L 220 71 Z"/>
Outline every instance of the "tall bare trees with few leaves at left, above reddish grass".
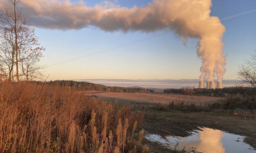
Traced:
<path fill-rule="evenodd" d="M 0 10 L 0 78 L 9 81 L 34 80 L 42 76 L 39 64 L 44 47 L 35 30 L 22 16 L 19 0 L 9 0 Z"/>

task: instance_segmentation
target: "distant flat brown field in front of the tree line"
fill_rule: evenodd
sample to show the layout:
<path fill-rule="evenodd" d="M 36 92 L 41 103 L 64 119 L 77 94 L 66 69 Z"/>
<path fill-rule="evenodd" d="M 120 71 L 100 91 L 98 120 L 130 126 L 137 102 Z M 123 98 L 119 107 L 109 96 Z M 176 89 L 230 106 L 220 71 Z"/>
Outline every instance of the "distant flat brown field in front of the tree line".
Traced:
<path fill-rule="evenodd" d="M 221 97 L 210 97 L 210 96 L 188 96 L 188 95 L 177 95 L 177 94 L 153 94 L 153 93 L 119 93 L 119 92 L 85 92 L 88 96 L 108 97 L 135 100 L 141 102 L 161 102 L 169 103 L 173 101 L 182 102 L 217 102 L 222 100 Z"/>

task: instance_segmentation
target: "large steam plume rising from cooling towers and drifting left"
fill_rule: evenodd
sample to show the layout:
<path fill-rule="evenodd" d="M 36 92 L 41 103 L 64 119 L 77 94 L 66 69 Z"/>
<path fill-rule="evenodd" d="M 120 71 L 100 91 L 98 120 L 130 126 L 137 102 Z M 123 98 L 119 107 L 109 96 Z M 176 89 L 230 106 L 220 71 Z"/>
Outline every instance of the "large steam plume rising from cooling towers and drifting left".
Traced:
<path fill-rule="evenodd" d="M 0 0 L 6 1 L 6 0 Z M 81 29 L 96 26 L 108 32 L 154 32 L 168 28 L 183 38 L 198 38 L 197 54 L 202 58 L 201 80 L 218 81 L 226 69 L 222 53 L 225 27 L 210 16 L 211 0 L 153 0 L 132 8 L 107 5 L 86 6 L 82 1 L 21 0 L 23 11 L 33 26 L 50 29 Z"/>

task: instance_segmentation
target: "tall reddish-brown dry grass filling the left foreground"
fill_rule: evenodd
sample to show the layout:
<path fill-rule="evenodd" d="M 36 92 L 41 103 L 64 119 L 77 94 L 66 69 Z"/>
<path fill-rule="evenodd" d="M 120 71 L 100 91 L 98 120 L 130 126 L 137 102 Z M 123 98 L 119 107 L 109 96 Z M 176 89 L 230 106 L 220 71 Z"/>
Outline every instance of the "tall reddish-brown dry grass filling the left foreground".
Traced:
<path fill-rule="evenodd" d="M 0 83 L 0 152 L 145 152 L 143 116 L 67 88 Z"/>

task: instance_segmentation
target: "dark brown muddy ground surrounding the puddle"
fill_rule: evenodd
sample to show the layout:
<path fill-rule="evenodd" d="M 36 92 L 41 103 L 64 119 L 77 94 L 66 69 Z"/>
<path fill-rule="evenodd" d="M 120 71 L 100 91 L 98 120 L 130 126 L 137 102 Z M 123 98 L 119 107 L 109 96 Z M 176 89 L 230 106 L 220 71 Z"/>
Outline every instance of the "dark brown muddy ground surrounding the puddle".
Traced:
<path fill-rule="evenodd" d="M 108 101 L 111 100 L 108 98 Z M 112 99 L 114 101 L 115 98 Z M 235 116 L 229 110 L 212 112 L 182 112 L 176 110 L 158 110 L 150 102 L 136 102 L 117 99 L 118 102 L 128 102 L 135 111 L 145 111 L 141 128 L 148 134 L 161 136 L 189 136 L 198 127 L 209 127 L 226 131 L 231 134 L 245 136 L 245 142 L 256 149 L 256 117 Z M 151 153 L 168 153 L 180 151 L 169 150 L 160 144 L 145 140 Z"/>

